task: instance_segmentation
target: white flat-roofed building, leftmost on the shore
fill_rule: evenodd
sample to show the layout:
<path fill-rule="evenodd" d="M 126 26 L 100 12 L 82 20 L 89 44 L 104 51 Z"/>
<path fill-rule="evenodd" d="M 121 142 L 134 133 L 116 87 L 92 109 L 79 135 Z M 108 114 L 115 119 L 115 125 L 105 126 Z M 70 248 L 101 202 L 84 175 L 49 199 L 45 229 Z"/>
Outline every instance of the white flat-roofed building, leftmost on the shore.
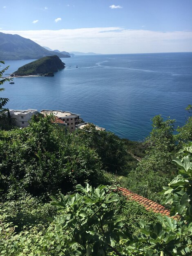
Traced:
<path fill-rule="evenodd" d="M 11 118 L 15 119 L 16 126 L 27 127 L 32 115 L 38 113 L 37 109 L 28 109 L 28 110 L 9 110 Z M 7 112 L 5 112 L 7 115 Z"/>

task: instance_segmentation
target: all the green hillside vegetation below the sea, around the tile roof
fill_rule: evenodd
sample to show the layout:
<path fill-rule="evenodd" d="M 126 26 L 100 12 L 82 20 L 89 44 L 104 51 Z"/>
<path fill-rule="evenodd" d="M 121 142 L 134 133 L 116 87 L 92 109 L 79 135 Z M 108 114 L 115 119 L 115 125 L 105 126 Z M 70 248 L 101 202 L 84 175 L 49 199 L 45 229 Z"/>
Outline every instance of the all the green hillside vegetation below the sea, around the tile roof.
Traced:
<path fill-rule="evenodd" d="M 0 255 L 191 255 L 192 117 L 176 129 L 154 117 L 143 143 L 92 125 L 70 133 L 53 118 L 1 126 Z M 163 200 L 180 217 L 147 211 L 117 186 Z"/>

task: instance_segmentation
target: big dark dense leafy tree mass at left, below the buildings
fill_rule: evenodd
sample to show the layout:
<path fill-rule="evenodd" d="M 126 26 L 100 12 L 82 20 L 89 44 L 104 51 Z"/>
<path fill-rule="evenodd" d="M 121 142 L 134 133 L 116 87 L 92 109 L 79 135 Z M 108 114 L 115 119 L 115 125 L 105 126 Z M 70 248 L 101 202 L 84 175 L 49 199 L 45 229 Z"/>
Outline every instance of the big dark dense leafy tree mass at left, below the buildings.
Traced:
<path fill-rule="evenodd" d="M 16 197 L 73 191 L 76 184 L 101 183 L 103 171 L 95 150 L 57 125 L 51 116 L 33 117 L 29 127 L 0 131 L 0 188 Z"/>

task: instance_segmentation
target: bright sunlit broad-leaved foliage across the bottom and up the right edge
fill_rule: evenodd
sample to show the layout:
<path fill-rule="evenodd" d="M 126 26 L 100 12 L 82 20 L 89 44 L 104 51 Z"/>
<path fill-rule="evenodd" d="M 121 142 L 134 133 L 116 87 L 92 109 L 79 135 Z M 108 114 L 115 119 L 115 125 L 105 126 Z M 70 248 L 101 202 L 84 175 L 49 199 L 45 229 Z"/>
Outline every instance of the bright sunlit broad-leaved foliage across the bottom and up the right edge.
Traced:
<path fill-rule="evenodd" d="M 52 197 L 59 215 L 48 229 L 33 227 L 14 234 L 14 228 L 1 223 L 2 255 L 143 255 L 186 256 L 192 253 L 192 146 L 184 148 L 174 159 L 179 174 L 164 189 L 165 200 L 172 204 L 172 215 L 180 219 L 159 217 L 156 224 L 140 220 L 140 234 L 132 235 L 129 227 L 117 222 L 116 210 L 109 206 L 119 200 L 111 188 L 93 189 L 77 185 L 79 193 Z M 30 241 L 30 243 L 29 243 Z"/>

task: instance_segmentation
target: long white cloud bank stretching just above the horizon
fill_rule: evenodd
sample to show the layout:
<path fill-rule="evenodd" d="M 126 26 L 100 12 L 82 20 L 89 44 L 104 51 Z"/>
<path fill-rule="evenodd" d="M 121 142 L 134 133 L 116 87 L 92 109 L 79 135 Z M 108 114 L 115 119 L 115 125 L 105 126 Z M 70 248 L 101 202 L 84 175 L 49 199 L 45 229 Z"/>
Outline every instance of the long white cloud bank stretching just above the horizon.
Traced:
<path fill-rule="evenodd" d="M 150 31 L 123 27 L 2 31 L 60 51 L 103 54 L 192 52 L 192 31 Z"/>

